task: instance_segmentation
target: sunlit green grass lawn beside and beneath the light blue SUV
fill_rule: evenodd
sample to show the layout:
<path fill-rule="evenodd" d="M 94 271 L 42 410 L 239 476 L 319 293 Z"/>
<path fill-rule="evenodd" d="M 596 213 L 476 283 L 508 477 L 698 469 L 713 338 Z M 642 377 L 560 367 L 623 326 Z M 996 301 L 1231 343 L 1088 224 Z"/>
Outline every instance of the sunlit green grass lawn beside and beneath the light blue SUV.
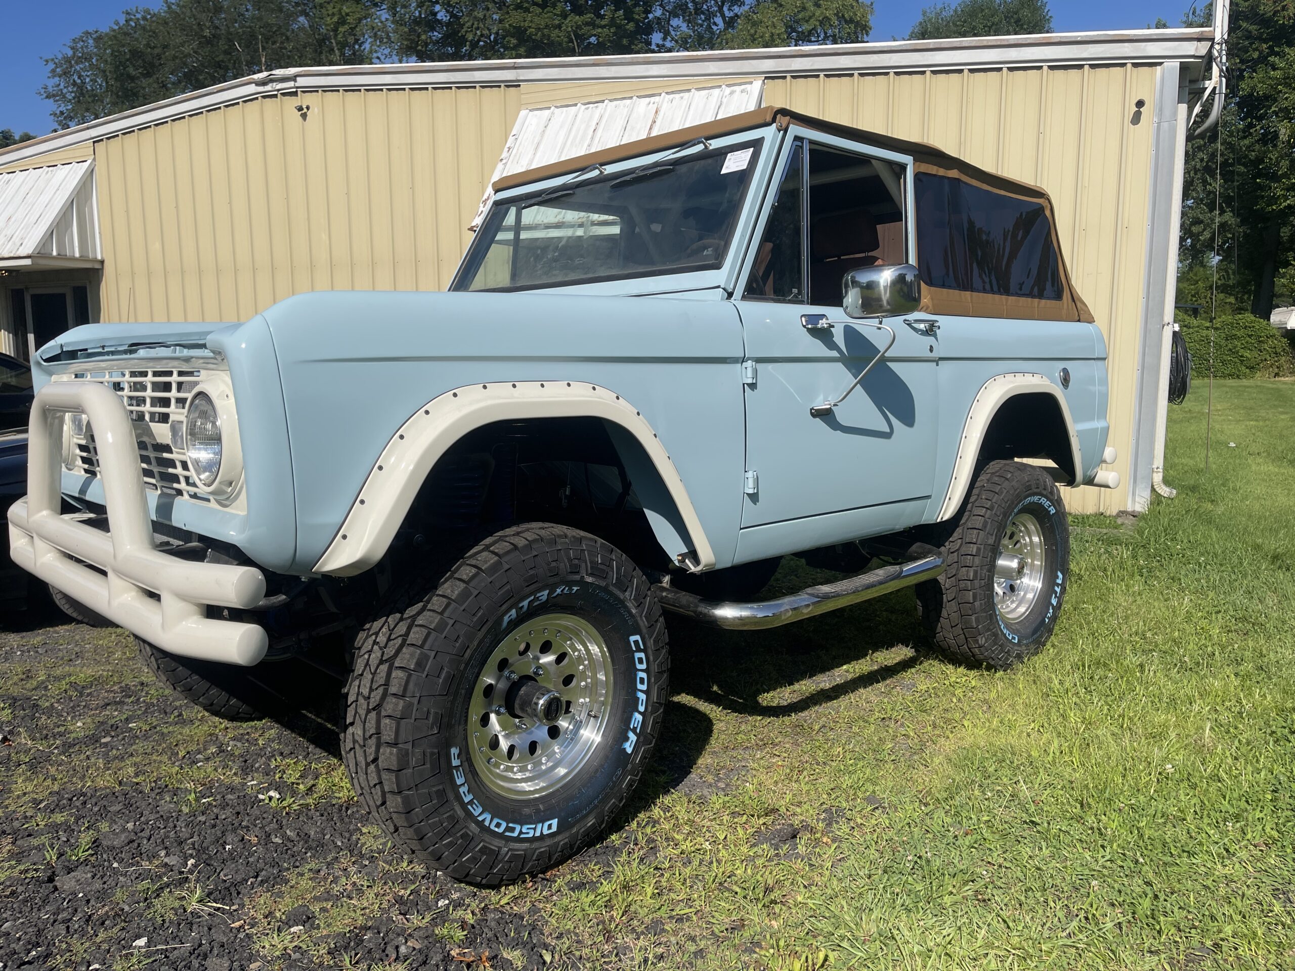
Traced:
<path fill-rule="evenodd" d="M 1295 967 L 1295 383 L 1216 385 L 1208 473 L 1204 405 L 1018 671 L 922 654 L 910 593 L 676 625 L 637 814 L 505 898 L 585 966 Z"/>

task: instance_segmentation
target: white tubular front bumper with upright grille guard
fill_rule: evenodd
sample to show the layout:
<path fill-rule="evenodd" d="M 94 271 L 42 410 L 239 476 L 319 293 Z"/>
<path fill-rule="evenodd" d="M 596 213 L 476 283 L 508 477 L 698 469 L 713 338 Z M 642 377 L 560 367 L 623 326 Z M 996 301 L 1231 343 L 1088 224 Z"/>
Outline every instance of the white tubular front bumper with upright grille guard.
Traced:
<path fill-rule="evenodd" d="M 95 429 L 109 532 L 60 514 L 62 417 L 71 412 Z M 193 563 L 157 548 L 135 429 L 104 385 L 52 382 L 36 392 L 27 496 L 9 508 L 9 548 L 14 563 L 164 651 L 245 665 L 265 655 L 260 627 L 207 616 L 208 606 L 254 607 L 265 577 L 255 567 Z"/>

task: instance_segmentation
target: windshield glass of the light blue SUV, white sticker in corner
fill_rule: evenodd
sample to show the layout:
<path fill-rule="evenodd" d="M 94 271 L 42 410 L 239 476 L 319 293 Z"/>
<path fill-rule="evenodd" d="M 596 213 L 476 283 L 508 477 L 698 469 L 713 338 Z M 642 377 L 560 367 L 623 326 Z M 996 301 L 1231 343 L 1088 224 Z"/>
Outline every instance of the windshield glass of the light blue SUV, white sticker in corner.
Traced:
<path fill-rule="evenodd" d="M 527 290 L 717 269 L 759 145 L 572 180 L 496 203 L 453 290 Z"/>

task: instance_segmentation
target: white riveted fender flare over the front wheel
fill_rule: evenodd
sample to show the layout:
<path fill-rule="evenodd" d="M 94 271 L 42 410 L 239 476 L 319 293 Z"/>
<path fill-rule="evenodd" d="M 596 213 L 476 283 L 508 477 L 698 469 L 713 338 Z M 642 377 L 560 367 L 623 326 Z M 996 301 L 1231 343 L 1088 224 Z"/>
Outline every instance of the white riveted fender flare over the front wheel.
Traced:
<path fill-rule="evenodd" d="M 466 385 L 434 397 L 400 426 L 351 504 L 316 574 L 354 576 L 376 564 L 395 539 L 414 496 L 440 457 L 483 425 L 518 418 L 603 418 L 642 445 L 688 530 L 697 568 L 715 566 L 684 480 L 642 414 L 620 395 L 574 381 L 518 381 Z"/>

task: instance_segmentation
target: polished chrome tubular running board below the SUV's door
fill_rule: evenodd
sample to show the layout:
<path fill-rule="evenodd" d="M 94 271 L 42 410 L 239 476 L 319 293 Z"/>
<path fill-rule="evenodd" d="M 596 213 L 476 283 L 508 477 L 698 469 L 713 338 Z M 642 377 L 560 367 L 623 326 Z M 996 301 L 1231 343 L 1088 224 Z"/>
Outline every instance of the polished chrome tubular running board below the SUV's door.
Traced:
<path fill-rule="evenodd" d="M 763 631 L 767 627 L 781 627 L 794 620 L 826 614 L 829 610 L 869 601 L 923 580 L 934 580 L 941 572 L 944 572 L 944 558 L 927 555 L 906 563 L 878 567 L 834 584 L 809 586 L 800 593 L 754 603 L 707 601 L 695 593 L 660 584 L 654 590 L 662 607 L 698 623 L 729 631 Z"/>

